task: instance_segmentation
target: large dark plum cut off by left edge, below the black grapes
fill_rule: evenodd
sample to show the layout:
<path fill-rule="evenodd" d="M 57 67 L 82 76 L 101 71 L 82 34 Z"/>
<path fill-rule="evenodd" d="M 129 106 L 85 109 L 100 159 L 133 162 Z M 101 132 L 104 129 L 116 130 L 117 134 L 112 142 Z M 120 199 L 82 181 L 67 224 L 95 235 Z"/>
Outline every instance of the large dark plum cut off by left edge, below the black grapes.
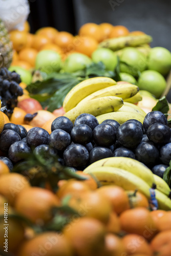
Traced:
<path fill-rule="evenodd" d="M 0 136 L 0 150 L 2 152 L 8 153 L 9 147 L 15 141 L 21 140 L 18 133 L 13 130 L 5 130 Z"/>

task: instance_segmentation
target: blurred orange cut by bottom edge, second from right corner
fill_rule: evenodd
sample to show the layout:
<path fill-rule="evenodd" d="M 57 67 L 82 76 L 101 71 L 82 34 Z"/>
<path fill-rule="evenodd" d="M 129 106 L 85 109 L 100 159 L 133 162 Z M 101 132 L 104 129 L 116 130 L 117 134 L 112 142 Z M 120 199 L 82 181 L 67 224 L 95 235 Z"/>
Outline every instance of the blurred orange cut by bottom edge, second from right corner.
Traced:
<path fill-rule="evenodd" d="M 152 249 L 142 236 L 139 234 L 126 234 L 122 242 L 125 247 L 126 255 L 145 254 L 152 256 Z"/>

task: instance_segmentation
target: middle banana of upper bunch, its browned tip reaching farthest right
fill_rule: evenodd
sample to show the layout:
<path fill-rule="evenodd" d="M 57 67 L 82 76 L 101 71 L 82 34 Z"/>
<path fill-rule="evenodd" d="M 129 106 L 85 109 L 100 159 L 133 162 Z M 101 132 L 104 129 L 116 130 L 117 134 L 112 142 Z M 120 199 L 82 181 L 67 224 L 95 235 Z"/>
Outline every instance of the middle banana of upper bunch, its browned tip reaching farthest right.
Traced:
<path fill-rule="evenodd" d="M 135 86 L 131 83 L 125 83 L 125 84 L 117 84 L 116 86 L 110 86 L 106 87 L 104 89 L 98 90 L 86 98 L 82 99 L 78 104 L 81 104 L 83 101 L 89 101 L 91 99 L 96 99 L 104 96 L 116 96 L 120 97 L 123 100 L 133 97 L 137 92 L 139 92 L 138 86 Z"/>

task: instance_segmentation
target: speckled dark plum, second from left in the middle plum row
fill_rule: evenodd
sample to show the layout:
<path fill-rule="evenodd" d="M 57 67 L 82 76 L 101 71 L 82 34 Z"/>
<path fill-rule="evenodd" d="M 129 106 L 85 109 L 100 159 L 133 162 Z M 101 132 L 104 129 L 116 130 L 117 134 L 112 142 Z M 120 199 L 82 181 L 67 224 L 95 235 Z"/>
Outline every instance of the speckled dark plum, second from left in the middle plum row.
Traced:
<path fill-rule="evenodd" d="M 26 139 L 29 146 L 49 144 L 49 133 L 40 127 L 33 127 L 27 133 Z"/>

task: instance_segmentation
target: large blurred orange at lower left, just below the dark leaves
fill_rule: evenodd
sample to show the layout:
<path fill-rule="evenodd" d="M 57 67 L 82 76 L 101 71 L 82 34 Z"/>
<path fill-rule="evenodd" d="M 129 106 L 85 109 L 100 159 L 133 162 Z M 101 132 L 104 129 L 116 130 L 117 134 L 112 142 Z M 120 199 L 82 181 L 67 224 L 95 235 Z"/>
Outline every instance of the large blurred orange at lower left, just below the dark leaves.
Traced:
<path fill-rule="evenodd" d="M 51 220 L 51 209 L 59 204 L 59 199 L 52 191 L 41 187 L 28 187 L 18 194 L 15 209 L 33 223 L 42 224 Z"/>

